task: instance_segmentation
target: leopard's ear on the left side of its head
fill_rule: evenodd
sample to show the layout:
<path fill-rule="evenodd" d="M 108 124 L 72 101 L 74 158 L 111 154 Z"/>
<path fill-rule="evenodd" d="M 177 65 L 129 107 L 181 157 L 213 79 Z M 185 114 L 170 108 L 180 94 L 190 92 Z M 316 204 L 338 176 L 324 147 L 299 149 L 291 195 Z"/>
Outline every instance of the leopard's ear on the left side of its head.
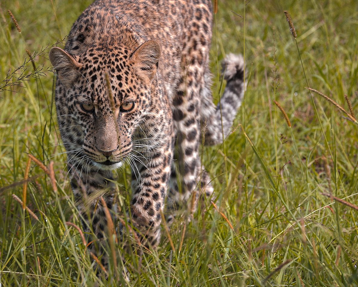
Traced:
<path fill-rule="evenodd" d="M 53 47 L 49 53 L 50 61 L 61 82 L 68 88 L 79 74 L 81 64 L 65 50 Z"/>

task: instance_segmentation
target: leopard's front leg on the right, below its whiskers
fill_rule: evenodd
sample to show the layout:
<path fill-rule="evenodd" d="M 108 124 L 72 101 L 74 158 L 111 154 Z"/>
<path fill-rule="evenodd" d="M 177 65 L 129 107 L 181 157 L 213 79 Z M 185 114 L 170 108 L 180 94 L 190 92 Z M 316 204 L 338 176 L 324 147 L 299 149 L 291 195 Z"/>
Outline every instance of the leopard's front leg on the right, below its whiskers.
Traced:
<path fill-rule="evenodd" d="M 160 241 L 161 212 L 168 190 L 172 149 L 171 141 L 156 145 L 146 156 L 136 155 L 132 166 L 131 222 L 141 244 L 156 246 Z"/>

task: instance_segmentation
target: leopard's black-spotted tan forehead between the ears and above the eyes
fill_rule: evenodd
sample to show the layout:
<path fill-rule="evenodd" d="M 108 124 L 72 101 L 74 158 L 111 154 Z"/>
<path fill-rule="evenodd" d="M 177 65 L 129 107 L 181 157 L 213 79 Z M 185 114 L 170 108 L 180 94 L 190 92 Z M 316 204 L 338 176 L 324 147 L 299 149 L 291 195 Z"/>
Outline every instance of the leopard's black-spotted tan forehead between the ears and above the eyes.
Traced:
<path fill-rule="evenodd" d="M 79 55 L 82 64 L 76 92 L 87 95 L 98 107 L 108 109 L 108 73 L 115 105 L 124 101 L 138 101 L 147 95 L 148 87 L 137 75 L 134 63 L 129 61 L 132 51 L 125 47 L 92 47 Z M 78 98 L 77 98 L 78 99 Z"/>

